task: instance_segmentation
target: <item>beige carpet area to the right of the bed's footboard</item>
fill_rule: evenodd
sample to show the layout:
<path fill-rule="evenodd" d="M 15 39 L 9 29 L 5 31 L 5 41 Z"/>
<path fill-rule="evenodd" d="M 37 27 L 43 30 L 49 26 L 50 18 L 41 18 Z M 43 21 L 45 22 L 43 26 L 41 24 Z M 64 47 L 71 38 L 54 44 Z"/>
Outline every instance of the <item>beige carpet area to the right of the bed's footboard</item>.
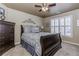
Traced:
<path fill-rule="evenodd" d="M 55 56 L 79 56 L 79 46 L 62 43 L 62 48 Z"/>

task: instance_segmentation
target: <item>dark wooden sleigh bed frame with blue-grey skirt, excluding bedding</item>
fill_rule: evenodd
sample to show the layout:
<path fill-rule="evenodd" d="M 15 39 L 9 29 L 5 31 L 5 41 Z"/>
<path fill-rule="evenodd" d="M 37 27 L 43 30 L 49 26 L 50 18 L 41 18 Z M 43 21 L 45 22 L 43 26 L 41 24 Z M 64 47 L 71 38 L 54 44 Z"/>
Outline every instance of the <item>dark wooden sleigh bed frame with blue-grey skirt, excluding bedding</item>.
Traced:
<path fill-rule="evenodd" d="M 23 27 L 21 25 L 21 35 L 23 33 Z M 42 48 L 41 56 L 53 56 L 61 48 L 61 36 L 60 34 L 51 34 L 40 37 L 40 43 Z M 32 56 L 37 56 L 33 46 L 21 39 L 21 45 L 24 47 Z"/>

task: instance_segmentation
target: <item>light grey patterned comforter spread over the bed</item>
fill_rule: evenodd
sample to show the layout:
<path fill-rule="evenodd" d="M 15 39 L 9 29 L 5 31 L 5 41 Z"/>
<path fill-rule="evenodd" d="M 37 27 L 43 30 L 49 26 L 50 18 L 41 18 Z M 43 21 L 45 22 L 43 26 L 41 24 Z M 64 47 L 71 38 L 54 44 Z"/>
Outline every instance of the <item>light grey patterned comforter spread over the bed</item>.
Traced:
<path fill-rule="evenodd" d="M 38 56 L 41 56 L 42 49 L 41 49 L 41 44 L 40 44 L 40 37 L 49 35 L 51 33 L 47 32 L 39 32 L 39 33 L 23 33 L 22 34 L 22 40 L 30 44 L 35 48 L 35 52 L 37 53 Z"/>

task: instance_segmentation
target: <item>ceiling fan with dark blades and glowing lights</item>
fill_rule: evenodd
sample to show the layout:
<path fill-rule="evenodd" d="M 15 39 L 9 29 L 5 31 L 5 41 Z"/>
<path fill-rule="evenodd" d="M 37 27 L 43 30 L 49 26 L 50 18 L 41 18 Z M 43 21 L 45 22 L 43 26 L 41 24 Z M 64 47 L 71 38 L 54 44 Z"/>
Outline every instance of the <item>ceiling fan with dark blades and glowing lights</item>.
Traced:
<path fill-rule="evenodd" d="M 53 6 L 56 6 L 56 3 L 53 3 L 53 4 L 42 3 L 42 5 L 35 5 L 35 7 L 41 8 L 40 10 L 38 10 L 39 12 L 41 12 L 41 11 L 44 11 L 44 12 L 49 11 L 49 8 L 53 7 Z"/>

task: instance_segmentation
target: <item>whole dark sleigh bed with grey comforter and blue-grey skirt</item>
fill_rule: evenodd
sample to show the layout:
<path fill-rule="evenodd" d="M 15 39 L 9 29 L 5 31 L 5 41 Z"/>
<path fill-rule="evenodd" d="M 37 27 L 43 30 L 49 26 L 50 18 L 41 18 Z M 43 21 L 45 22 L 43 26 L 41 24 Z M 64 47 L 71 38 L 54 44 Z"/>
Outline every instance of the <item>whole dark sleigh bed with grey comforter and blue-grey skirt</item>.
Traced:
<path fill-rule="evenodd" d="M 32 28 L 32 27 L 30 27 Z M 21 45 L 32 56 L 52 56 L 61 48 L 60 33 L 47 32 L 27 33 L 21 26 Z"/>

